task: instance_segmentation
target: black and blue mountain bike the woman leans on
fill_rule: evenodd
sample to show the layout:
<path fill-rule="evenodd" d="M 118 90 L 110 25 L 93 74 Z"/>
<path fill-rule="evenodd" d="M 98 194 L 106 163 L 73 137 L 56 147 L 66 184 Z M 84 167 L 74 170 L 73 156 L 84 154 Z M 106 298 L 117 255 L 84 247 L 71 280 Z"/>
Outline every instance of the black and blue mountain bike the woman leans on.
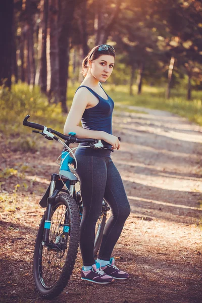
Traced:
<path fill-rule="evenodd" d="M 32 130 L 43 135 L 48 140 L 56 140 L 64 145 L 62 152 L 61 168 L 59 174 L 52 174 L 51 182 L 39 202 L 42 208 L 46 208 L 41 219 L 36 236 L 33 257 L 34 282 L 38 293 L 43 298 L 54 298 L 66 287 L 72 274 L 79 245 L 79 226 L 82 220 L 82 197 L 80 190 L 76 192 L 75 184 L 79 181 L 69 168 L 75 170 L 77 163 L 70 154 L 71 143 L 88 143 L 85 147 L 107 148 L 98 139 L 79 139 L 75 133 L 66 136 L 54 129 L 29 122 L 29 115 L 23 120 L 23 125 L 41 130 Z M 65 140 L 65 143 L 58 137 Z M 120 137 L 119 137 L 120 140 Z M 76 147 L 77 148 L 77 147 Z M 69 151 L 69 153 L 68 153 Z M 72 153 L 73 154 L 73 153 Z M 66 160 L 66 161 L 65 161 Z M 74 168 L 73 168 L 74 167 Z M 64 189 L 64 185 L 66 189 Z M 62 193 L 61 193 L 62 192 Z M 95 228 L 94 254 L 96 255 L 102 242 L 103 231 L 107 220 L 107 212 L 110 210 L 103 199 L 102 213 Z"/>

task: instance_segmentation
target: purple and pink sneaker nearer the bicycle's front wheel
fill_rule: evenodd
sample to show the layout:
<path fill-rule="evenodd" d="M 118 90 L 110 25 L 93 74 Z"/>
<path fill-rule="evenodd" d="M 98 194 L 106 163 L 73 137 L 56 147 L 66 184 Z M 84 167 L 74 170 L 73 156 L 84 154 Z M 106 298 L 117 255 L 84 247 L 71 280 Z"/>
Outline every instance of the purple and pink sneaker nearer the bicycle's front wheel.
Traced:
<path fill-rule="evenodd" d="M 100 268 L 99 263 L 93 264 L 90 270 L 84 270 L 82 267 L 81 279 L 97 284 L 109 284 L 114 282 L 114 278 L 104 273 L 104 271 Z"/>

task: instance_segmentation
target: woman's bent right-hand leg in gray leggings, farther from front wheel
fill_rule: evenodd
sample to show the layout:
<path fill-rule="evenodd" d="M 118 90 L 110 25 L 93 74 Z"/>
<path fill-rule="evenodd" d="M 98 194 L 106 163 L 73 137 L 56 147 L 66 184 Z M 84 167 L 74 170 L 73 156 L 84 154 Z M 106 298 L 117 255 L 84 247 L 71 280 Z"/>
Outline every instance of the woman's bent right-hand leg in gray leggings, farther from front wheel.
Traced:
<path fill-rule="evenodd" d="M 107 182 L 104 197 L 111 207 L 112 216 L 104 229 L 98 259 L 109 261 L 124 223 L 130 214 L 130 205 L 121 176 L 111 159 L 107 165 Z"/>

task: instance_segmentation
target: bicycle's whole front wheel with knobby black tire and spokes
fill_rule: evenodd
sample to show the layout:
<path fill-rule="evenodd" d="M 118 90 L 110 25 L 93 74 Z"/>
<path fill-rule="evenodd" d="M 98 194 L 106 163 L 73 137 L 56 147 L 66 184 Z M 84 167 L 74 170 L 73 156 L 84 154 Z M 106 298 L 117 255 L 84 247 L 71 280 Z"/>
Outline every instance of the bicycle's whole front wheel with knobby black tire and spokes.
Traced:
<path fill-rule="evenodd" d="M 45 213 L 34 248 L 34 281 L 44 298 L 59 295 L 72 274 L 79 244 L 79 211 L 74 198 L 66 193 L 56 197 L 51 218 L 49 244 L 43 243 Z"/>

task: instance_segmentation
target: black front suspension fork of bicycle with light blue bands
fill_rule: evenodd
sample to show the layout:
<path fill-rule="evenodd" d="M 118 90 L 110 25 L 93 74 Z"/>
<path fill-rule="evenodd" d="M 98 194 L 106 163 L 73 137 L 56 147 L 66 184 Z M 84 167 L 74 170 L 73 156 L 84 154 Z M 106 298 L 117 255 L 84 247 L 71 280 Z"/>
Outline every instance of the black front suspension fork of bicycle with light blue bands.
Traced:
<path fill-rule="evenodd" d="M 51 230 L 51 218 L 53 215 L 53 208 L 55 205 L 56 196 L 60 191 L 67 192 L 67 190 L 64 189 L 55 189 L 56 188 L 56 178 L 57 174 L 52 174 L 51 176 L 51 186 L 49 191 L 49 197 L 47 198 L 47 207 L 46 207 L 46 213 L 45 213 L 45 223 L 44 223 L 44 232 L 43 232 L 43 241 L 42 245 L 48 246 L 49 244 L 49 232 Z M 69 192 L 73 196 L 74 193 L 74 185 L 75 181 L 70 181 L 70 188 Z M 63 234 L 67 236 L 69 234 L 70 226 L 68 224 L 69 218 L 68 218 L 68 212 L 65 212 L 65 219 L 64 224 L 61 224 L 63 226 Z"/>

